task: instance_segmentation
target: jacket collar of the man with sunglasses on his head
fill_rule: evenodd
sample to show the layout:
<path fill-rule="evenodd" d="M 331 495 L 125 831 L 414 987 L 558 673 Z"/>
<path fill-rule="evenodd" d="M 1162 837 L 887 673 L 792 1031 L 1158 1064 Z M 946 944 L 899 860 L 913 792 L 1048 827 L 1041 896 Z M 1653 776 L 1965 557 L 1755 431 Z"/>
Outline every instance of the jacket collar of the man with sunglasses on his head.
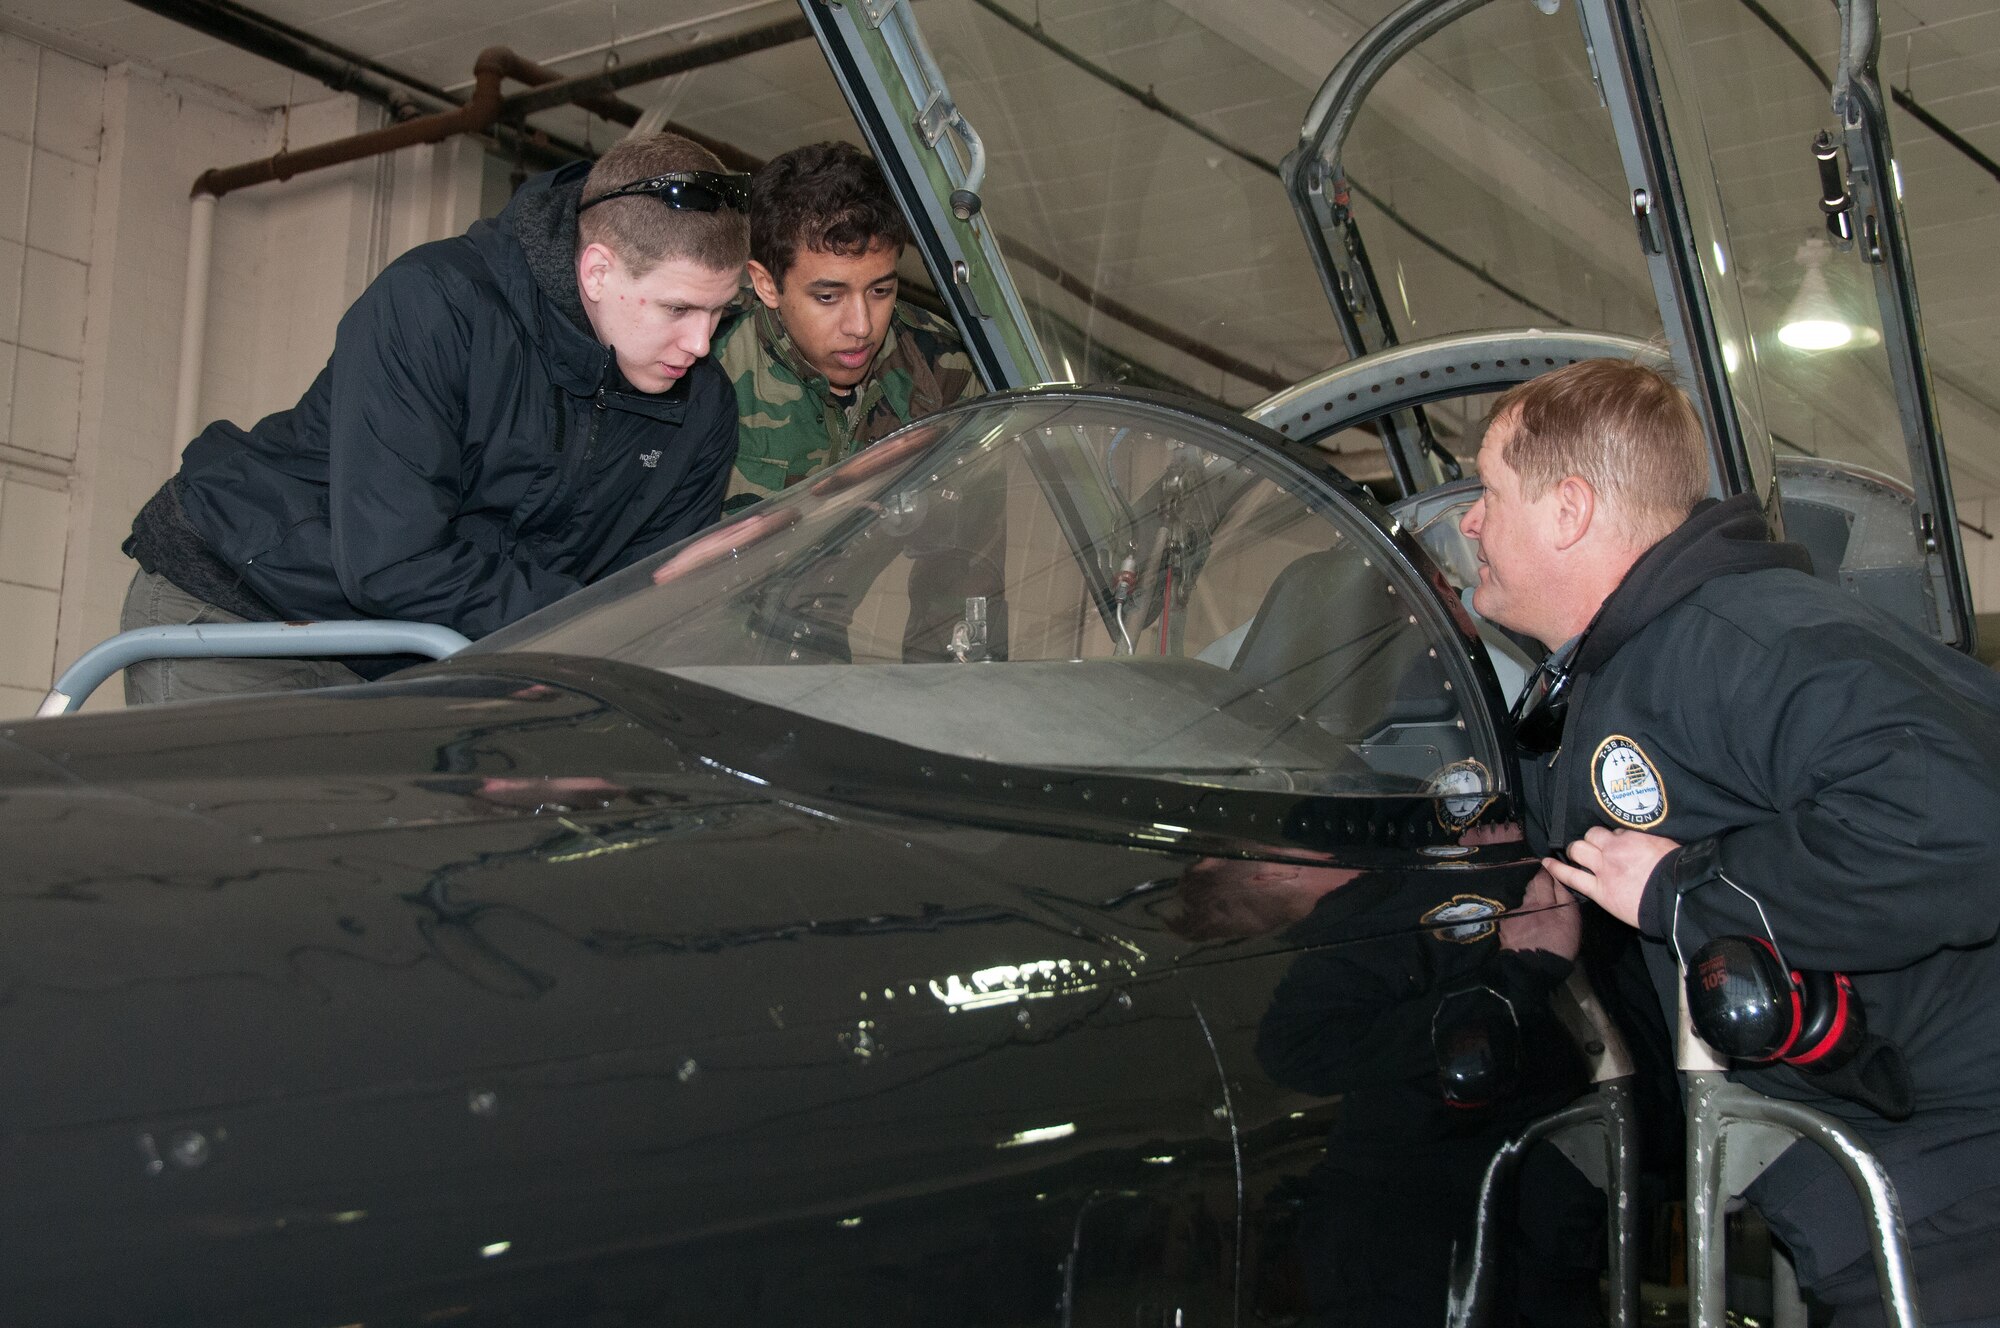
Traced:
<path fill-rule="evenodd" d="M 640 392 L 618 372 L 576 290 L 576 202 L 584 196 L 590 162 L 570 162 L 534 176 L 514 192 L 492 222 L 468 238 L 494 274 L 514 320 L 548 362 L 550 378 L 572 396 L 652 420 L 678 422 L 688 404 L 688 378 L 666 392 Z"/>

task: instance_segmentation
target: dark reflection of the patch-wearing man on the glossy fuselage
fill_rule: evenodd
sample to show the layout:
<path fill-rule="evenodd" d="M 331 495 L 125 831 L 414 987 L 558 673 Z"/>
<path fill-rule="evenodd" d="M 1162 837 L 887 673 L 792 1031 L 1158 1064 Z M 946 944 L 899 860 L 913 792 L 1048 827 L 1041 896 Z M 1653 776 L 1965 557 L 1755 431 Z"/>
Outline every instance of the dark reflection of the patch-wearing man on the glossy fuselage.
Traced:
<path fill-rule="evenodd" d="M 1568 960 L 1510 948 L 1508 892 L 1466 876 L 1230 860 L 1182 876 L 1174 930 L 1280 946 L 1192 974 L 1244 1078 L 1246 1276 L 1268 1316 L 1444 1322 L 1488 1160 L 1586 1088 L 1550 1012 Z M 1298 1120 L 1324 1122 L 1324 1152 L 1300 1150 Z M 1602 1196 L 1538 1148 L 1506 1216 L 1502 1304 L 1602 1322 Z"/>

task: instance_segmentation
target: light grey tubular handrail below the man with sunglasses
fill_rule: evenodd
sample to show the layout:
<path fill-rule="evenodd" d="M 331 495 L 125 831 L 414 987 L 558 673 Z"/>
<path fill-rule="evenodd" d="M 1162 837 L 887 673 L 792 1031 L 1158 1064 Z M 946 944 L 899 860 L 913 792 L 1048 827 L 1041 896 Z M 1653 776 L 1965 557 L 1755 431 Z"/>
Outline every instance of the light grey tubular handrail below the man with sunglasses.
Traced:
<path fill-rule="evenodd" d="M 434 622 L 204 622 L 134 628 L 98 642 L 62 670 L 36 716 L 68 714 L 120 668 L 144 660 L 424 654 L 442 660 L 472 642 Z"/>

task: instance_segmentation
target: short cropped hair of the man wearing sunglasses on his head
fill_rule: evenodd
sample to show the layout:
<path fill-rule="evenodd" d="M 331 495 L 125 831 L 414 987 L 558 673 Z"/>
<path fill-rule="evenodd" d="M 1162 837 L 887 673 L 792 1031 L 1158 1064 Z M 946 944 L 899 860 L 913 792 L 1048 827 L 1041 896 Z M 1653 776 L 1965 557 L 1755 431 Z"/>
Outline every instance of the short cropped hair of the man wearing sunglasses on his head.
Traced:
<path fill-rule="evenodd" d="M 714 152 L 680 134 L 628 138 L 598 158 L 578 202 L 590 202 L 634 180 L 676 170 L 722 170 Z M 602 244 L 632 276 L 646 276 L 670 258 L 728 272 L 750 258 L 750 218 L 730 208 L 694 212 L 656 198 L 612 198 L 576 218 L 576 248 Z"/>

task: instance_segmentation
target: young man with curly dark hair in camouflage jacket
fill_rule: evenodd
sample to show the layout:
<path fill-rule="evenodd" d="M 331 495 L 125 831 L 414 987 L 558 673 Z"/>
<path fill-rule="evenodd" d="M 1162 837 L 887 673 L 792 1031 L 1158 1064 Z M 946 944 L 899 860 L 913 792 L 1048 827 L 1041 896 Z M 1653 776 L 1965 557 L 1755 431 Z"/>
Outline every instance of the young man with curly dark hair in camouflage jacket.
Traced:
<path fill-rule="evenodd" d="M 756 174 L 756 298 L 716 334 L 738 420 L 724 510 L 984 390 L 952 328 L 896 298 L 908 242 L 882 168 L 852 144 L 794 148 Z"/>

